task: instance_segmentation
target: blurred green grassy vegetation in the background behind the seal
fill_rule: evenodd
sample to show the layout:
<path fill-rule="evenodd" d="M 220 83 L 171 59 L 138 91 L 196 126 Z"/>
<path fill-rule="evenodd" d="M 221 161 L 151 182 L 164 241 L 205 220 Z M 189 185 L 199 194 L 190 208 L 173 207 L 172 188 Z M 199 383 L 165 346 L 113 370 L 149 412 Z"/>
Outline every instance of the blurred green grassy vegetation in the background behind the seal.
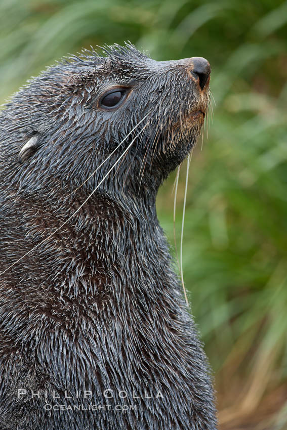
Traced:
<path fill-rule="evenodd" d="M 157 60 L 210 61 L 216 105 L 192 155 L 183 263 L 222 428 L 241 428 L 255 411 L 256 428 L 287 428 L 286 23 L 287 2 L 278 0 L 0 3 L 2 102 L 30 75 L 90 45 L 131 40 Z M 157 202 L 171 243 L 174 178 Z"/>

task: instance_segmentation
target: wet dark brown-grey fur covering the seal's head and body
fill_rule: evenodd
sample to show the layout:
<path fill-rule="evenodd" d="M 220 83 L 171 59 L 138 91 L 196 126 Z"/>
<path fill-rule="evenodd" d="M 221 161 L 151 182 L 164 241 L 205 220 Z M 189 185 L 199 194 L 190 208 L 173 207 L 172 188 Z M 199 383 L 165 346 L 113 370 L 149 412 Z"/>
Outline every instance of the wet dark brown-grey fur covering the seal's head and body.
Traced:
<path fill-rule="evenodd" d="M 155 210 L 158 187 L 198 137 L 203 116 L 192 112 L 207 108 L 208 88 L 200 91 L 187 68 L 130 45 L 106 57 L 86 52 L 31 80 L 1 113 L 0 259 L 8 270 L 0 279 L 0 429 L 216 428 L 206 357 Z M 117 85 L 133 91 L 117 109 L 99 109 Z M 90 200 L 42 243 L 144 125 Z M 20 163 L 32 136 L 38 147 Z M 17 389 L 28 394 L 17 399 Z M 48 399 L 31 399 L 31 390 Z M 45 403 L 111 408 L 45 411 Z M 136 409 L 113 409 L 130 404 Z"/>

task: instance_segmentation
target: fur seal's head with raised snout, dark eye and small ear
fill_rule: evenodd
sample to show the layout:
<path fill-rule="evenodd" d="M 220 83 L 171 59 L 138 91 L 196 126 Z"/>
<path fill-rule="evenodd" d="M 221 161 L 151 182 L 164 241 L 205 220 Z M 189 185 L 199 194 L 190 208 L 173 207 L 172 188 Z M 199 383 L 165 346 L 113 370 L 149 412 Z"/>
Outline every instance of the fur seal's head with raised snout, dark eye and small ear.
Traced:
<path fill-rule="evenodd" d="M 125 140 L 101 168 L 103 176 L 134 139 L 117 183 L 157 190 L 190 152 L 209 103 L 208 61 L 158 62 L 131 44 L 104 51 L 107 56 L 85 50 L 48 68 L 8 104 L 6 115 L 11 109 L 17 118 L 9 152 L 22 163 L 15 163 L 14 183 L 39 186 L 48 172 L 77 187 Z M 96 174 L 90 183 L 99 180 Z"/>

